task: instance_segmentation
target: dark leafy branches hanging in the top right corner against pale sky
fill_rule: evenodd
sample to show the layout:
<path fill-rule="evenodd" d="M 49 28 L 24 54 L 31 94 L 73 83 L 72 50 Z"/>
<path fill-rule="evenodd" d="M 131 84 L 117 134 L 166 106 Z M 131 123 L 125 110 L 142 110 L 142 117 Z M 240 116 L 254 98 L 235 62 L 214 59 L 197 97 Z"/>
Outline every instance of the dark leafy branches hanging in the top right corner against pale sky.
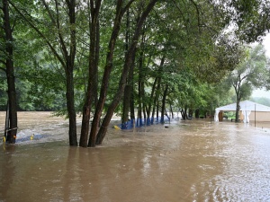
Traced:
<path fill-rule="evenodd" d="M 239 40 L 244 40 L 247 43 L 261 40 L 261 37 L 270 29 L 270 4 L 268 0 L 212 2 L 219 8 L 218 12 L 225 13 Z"/>

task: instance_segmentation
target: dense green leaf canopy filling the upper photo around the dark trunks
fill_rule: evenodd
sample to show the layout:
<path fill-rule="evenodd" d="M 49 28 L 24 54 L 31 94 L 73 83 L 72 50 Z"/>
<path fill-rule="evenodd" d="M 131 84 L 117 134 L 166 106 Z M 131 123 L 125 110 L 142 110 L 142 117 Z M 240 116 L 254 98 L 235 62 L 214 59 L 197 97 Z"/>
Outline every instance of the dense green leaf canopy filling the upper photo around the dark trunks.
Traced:
<path fill-rule="evenodd" d="M 56 57 L 52 56 L 46 41 L 34 31 L 29 22 L 35 24 L 49 41 L 60 57 L 59 34 L 62 40 L 69 40 L 69 32 L 76 31 L 76 61 L 74 69 L 74 88 L 76 111 L 83 109 L 87 88 L 89 65 L 89 16 L 88 5 L 78 1 L 76 5 L 76 24 L 67 22 L 67 4 L 58 1 L 13 1 L 25 19 L 11 6 L 14 22 L 14 62 L 16 66 L 18 105 L 21 110 L 60 110 L 65 111 L 65 72 Z M 130 6 L 130 25 L 127 28 L 127 15 L 121 22 L 121 31 L 117 39 L 113 57 L 113 69 L 110 77 L 104 111 L 112 101 L 113 94 L 119 85 L 122 66 L 126 53 L 125 34 L 131 39 L 139 13 L 145 1 L 135 1 Z M 144 103 L 151 102 L 150 89 L 156 77 L 161 77 L 161 85 L 169 84 L 167 102 L 179 107 L 188 104 L 190 108 L 209 108 L 210 103 L 223 105 L 231 101 L 228 83 L 224 75 L 249 74 L 242 85 L 242 97 L 248 97 L 252 86 L 266 85 L 265 58 L 259 47 L 249 50 L 243 58 L 241 41 L 253 41 L 264 35 L 269 29 L 267 13 L 269 5 L 255 0 L 250 1 L 169 1 L 158 2 L 154 12 L 150 13 L 139 38 L 135 58 L 134 92 L 138 92 L 139 75 L 144 83 Z M 98 86 L 101 86 L 103 67 L 110 40 L 115 2 L 103 1 L 100 13 L 100 57 L 98 68 Z M 50 14 L 50 15 L 49 15 Z M 30 18 L 31 16 L 31 18 Z M 58 16 L 58 18 L 57 18 Z M 53 21 L 58 19 L 58 25 Z M 2 21 L 2 18 L 1 20 Z M 27 22 L 29 21 L 29 22 Z M 238 25 L 234 33 L 224 31 L 229 22 Z M 3 32 L 3 30 L 0 30 Z M 236 35 L 234 35 L 236 34 Z M 68 43 L 66 45 L 69 45 Z M 4 57 L 5 42 L 0 39 L 0 58 Z M 69 49 L 67 49 L 69 51 Z M 139 58 L 142 53 L 142 69 L 139 69 Z M 165 66 L 158 69 L 162 57 L 166 58 Z M 241 62 L 239 64 L 239 62 Z M 234 70 L 238 66 L 236 70 Z M 253 68 L 252 66 L 257 66 Z M 5 106 L 4 72 L 1 73 L 0 106 Z M 269 77 L 269 76 L 268 76 Z M 3 83 L 2 83 L 3 80 Z M 221 83 L 220 83 L 221 81 Z M 233 80 L 230 80 L 232 83 Z M 99 92 L 99 91 L 98 91 Z M 136 99 L 136 97 L 135 97 Z M 135 101 L 137 104 L 138 101 Z M 121 110 L 121 107 L 119 107 Z"/>

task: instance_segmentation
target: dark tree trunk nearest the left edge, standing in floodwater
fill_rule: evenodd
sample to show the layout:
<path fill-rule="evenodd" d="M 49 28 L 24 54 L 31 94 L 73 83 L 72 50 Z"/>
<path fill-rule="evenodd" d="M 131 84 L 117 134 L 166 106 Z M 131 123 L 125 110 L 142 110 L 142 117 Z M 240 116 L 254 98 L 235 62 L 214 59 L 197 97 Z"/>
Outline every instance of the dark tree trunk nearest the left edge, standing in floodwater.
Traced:
<path fill-rule="evenodd" d="M 9 105 L 9 129 L 7 132 L 7 141 L 14 144 L 17 134 L 17 104 L 16 104 L 16 90 L 15 90 L 15 76 L 14 76 L 14 45 L 13 32 L 10 25 L 9 5 L 7 0 L 3 0 L 3 21 L 5 34 L 5 73 L 7 79 L 7 94 Z"/>

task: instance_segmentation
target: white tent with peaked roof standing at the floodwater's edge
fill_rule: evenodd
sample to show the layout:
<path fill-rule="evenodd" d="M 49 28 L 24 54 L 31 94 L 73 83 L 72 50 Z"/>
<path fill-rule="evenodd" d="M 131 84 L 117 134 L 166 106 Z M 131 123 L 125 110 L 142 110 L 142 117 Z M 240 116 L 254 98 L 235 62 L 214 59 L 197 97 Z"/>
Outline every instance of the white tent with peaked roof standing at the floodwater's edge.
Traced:
<path fill-rule="evenodd" d="M 236 103 L 229 104 L 220 108 L 216 108 L 215 110 L 215 121 L 219 121 L 219 113 L 220 111 L 235 111 L 236 110 Z M 240 111 L 244 116 L 244 123 L 249 123 L 249 114 L 251 111 L 264 111 L 270 112 L 270 107 L 266 105 L 258 104 L 253 101 L 240 101 Z M 269 119 L 270 121 L 270 119 Z"/>

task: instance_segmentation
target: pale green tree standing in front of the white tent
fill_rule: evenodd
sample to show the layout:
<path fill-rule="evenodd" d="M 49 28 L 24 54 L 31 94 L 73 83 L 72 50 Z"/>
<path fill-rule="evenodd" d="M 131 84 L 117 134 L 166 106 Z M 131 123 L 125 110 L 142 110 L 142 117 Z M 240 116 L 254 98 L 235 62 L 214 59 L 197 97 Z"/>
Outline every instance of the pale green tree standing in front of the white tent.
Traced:
<path fill-rule="evenodd" d="M 229 74 L 227 81 L 236 93 L 236 122 L 239 121 L 239 102 L 247 99 L 254 87 L 261 88 L 266 85 L 267 80 L 266 50 L 262 45 L 255 48 L 247 48 L 243 61 Z"/>

